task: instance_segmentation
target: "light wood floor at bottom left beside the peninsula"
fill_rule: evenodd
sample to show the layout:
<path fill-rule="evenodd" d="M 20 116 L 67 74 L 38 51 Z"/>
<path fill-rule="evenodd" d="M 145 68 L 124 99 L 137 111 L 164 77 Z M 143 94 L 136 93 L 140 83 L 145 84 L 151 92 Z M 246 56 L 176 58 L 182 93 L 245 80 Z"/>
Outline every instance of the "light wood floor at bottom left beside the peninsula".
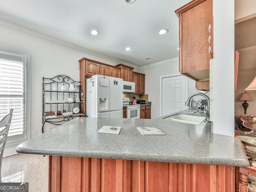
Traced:
<path fill-rule="evenodd" d="M 15 154 L 2 160 L 2 182 L 28 182 L 30 192 L 48 192 L 48 156 Z"/>

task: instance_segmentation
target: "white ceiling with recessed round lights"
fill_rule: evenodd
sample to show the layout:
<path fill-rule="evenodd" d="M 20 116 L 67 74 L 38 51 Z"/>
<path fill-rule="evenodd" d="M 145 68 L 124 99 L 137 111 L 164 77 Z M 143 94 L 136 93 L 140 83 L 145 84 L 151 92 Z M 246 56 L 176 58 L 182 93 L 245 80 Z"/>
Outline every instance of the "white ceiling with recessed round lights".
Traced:
<path fill-rule="evenodd" d="M 178 57 L 179 20 L 174 10 L 189 1 L 0 0 L 0 19 L 144 66 Z M 162 28 L 169 32 L 159 35 Z M 100 34 L 92 36 L 92 29 Z M 132 50 L 125 51 L 127 46 Z"/>

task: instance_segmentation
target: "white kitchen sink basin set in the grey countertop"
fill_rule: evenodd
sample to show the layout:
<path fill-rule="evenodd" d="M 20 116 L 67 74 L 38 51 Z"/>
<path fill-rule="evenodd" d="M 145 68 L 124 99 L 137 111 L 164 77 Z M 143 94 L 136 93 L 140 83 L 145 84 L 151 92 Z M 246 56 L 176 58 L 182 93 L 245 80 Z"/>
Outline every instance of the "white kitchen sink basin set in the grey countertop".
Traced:
<path fill-rule="evenodd" d="M 198 125 L 202 123 L 206 119 L 206 117 L 176 114 L 176 115 L 166 117 L 164 119 L 169 121 L 176 121 L 176 122 Z"/>

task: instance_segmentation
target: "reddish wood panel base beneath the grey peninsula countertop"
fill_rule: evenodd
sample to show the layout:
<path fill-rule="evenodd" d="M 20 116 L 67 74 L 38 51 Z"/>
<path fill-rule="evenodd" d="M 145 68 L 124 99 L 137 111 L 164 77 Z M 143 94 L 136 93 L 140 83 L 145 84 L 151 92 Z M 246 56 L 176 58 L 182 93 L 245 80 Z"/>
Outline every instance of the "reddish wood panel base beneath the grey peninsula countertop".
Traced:
<path fill-rule="evenodd" d="M 234 192 L 235 167 L 49 156 L 49 192 Z"/>

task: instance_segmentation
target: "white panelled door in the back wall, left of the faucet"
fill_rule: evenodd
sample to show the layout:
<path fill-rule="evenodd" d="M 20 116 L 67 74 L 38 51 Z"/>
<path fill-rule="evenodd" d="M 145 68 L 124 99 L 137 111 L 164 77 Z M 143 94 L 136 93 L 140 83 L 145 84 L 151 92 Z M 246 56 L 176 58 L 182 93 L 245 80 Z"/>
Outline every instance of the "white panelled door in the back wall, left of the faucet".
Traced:
<path fill-rule="evenodd" d="M 186 109 L 186 76 L 162 78 L 162 116 Z"/>

